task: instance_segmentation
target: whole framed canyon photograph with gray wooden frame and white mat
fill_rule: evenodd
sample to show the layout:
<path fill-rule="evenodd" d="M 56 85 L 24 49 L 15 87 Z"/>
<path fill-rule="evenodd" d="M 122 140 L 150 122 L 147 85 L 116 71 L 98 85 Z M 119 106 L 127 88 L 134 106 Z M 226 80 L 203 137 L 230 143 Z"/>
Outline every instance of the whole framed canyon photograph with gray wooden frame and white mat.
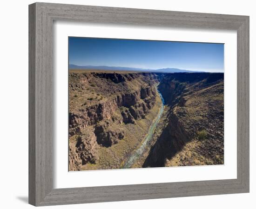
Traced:
<path fill-rule="evenodd" d="M 29 203 L 249 192 L 249 17 L 29 5 Z"/>

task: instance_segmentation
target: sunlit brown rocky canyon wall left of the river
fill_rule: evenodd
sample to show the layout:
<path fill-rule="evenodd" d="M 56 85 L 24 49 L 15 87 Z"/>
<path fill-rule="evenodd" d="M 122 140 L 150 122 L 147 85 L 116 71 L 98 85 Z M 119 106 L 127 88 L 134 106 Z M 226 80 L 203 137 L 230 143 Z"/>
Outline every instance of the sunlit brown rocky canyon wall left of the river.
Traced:
<path fill-rule="evenodd" d="M 146 117 L 155 105 L 158 78 L 152 73 L 70 73 L 70 170 L 95 163 L 98 146 L 117 144 L 126 135 L 125 125 Z"/>

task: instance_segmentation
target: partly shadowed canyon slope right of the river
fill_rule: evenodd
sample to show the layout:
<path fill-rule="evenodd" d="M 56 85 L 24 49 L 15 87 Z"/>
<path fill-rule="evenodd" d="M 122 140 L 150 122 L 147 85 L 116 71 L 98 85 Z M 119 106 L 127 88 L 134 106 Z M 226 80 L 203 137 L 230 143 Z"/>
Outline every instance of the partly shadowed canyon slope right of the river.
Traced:
<path fill-rule="evenodd" d="M 174 73 L 159 85 L 168 124 L 143 167 L 223 164 L 223 73 Z"/>

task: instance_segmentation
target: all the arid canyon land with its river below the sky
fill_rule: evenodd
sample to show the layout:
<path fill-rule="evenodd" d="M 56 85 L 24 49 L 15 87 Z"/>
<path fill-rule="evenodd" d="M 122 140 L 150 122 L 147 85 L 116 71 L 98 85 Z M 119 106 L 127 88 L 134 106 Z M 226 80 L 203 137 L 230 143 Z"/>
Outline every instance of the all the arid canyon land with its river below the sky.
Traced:
<path fill-rule="evenodd" d="M 224 163 L 223 73 L 69 72 L 69 170 Z"/>

